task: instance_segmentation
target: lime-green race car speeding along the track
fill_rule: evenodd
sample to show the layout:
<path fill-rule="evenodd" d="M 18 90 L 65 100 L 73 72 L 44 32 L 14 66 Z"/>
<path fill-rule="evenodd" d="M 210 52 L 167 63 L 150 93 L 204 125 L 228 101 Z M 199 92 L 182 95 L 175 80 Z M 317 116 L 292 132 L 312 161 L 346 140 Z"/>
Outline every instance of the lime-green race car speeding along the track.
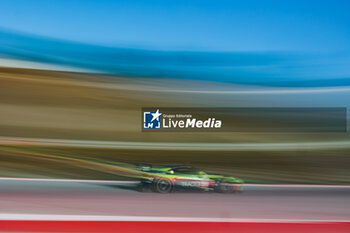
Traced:
<path fill-rule="evenodd" d="M 220 174 L 210 174 L 186 165 L 140 165 L 140 187 L 157 193 L 170 193 L 177 189 L 199 189 L 220 193 L 242 191 L 243 180 Z"/>

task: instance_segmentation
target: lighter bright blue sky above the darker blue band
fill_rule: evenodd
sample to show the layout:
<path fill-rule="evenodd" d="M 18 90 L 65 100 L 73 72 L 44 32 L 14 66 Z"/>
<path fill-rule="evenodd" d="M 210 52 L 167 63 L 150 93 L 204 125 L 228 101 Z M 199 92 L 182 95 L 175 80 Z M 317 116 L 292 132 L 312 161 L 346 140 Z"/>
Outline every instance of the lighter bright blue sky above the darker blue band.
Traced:
<path fill-rule="evenodd" d="M 0 27 L 132 48 L 350 51 L 350 1 L 1 0 Z"/>

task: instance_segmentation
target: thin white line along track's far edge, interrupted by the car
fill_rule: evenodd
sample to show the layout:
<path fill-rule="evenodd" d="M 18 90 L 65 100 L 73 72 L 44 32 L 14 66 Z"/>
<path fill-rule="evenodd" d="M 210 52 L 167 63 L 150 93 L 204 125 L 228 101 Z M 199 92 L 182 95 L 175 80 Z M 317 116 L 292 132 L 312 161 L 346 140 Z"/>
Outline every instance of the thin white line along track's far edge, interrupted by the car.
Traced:
<path fill-rule="evenodd" d="M 52 179 L 52 178 L 21 178 L 0 177 L 0 181 L 34 181 L 34 182 L 68 182 L 68 183 L 95 183 L 95 184 L 137 184 L 139 181 L 124 180 L 83 180 L 83 179 Z M 243 184 L 244 187 L 271 187 L 271 188 L 350 188 L 350 185 L 322 185 L 322 184 Z"/>

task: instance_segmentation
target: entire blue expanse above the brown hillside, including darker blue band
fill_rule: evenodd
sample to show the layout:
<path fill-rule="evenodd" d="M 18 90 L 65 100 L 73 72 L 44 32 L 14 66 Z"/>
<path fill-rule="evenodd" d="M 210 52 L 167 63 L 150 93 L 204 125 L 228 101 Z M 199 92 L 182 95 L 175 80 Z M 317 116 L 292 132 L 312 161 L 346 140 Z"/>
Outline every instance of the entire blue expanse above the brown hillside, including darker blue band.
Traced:
<path fill-rule="evenodd" d="M 0 58 L 124 76 L 344 86 L 349 9 L 341 0 L 1 0 Z"/>

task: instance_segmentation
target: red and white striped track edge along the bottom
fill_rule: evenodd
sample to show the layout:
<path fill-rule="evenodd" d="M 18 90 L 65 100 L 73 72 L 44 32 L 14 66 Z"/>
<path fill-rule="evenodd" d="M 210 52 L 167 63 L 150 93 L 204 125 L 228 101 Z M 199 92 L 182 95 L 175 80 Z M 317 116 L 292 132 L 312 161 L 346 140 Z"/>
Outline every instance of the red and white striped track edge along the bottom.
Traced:
<path fill-rule="evenodd" d="M 350 221 L 0 214 L 0 231 L 346 233 Z"/>

